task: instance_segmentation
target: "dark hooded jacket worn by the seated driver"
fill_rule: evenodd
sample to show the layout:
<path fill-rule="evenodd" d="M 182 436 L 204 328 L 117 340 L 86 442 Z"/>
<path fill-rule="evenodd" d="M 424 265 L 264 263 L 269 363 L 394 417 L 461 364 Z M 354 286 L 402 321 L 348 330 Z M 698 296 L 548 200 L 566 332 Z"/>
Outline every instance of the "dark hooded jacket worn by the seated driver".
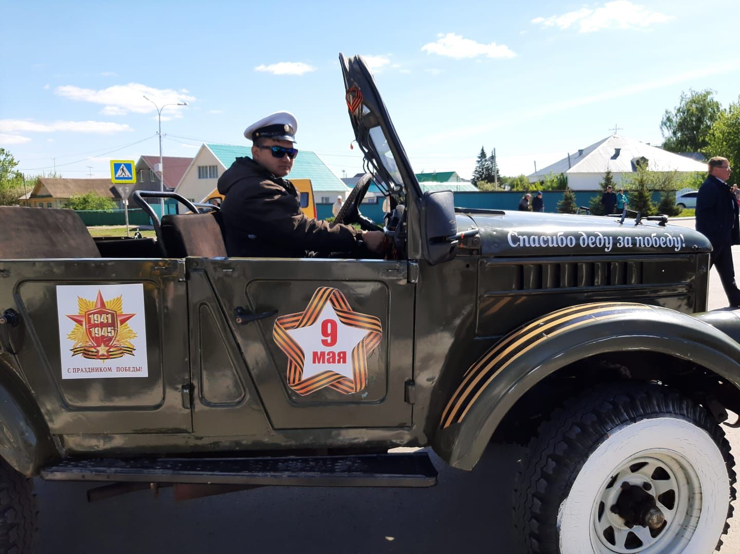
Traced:
<path fill-rule="evenodd" d="M 229 256 L 304 257 L 306 251 L 349 252 L 360 232 L 306 217 L 295 186 L 252 158 L 237 158 L 218 179 L 223 242 Z"/>

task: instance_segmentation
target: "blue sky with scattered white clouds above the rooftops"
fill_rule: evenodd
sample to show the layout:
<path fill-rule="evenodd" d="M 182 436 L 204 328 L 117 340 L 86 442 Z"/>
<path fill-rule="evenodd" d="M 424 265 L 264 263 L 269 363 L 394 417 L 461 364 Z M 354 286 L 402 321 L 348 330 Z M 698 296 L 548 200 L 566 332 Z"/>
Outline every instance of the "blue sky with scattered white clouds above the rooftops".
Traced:
<path fill-rule="evenodd" d="M 246 144 L 271 112 L 338 176 L 361 170 L 337 53 L 367 56 L 417 172 L 470 178 L 480 147 L 503 175 L 620 134 L 660 143 L 682 90 L 740 95 L 729 0 L 0 0 L 0 146 L 29 174 L 107 177 L 110 159 Z M 115 152 L 112 152 L 115 150 Z"/>

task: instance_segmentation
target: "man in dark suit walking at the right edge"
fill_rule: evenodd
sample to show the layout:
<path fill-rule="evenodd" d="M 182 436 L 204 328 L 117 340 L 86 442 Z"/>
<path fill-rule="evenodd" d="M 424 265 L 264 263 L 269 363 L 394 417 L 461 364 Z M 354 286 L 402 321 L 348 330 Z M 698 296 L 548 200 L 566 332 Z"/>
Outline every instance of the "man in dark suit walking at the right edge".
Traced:
<path fill-rule="evenodd" d="M 731 246 L 740 244 L 738 203 L 730 191 L 730 162 L 715 156 L 707 163 L 709 175 L 696 195 L 696 230 L 712 243 L 710 267 L 714 265 L 722 280 L 730 305 L 740 306 L 740 290 L 735 284 Z"/>

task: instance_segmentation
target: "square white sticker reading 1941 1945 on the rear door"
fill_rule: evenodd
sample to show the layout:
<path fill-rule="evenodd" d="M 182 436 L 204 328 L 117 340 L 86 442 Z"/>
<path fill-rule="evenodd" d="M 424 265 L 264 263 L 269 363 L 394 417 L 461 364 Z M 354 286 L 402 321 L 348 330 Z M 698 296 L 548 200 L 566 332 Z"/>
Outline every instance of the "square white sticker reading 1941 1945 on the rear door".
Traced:
<path fill-rule="evenodd" d="M 62 379 L 146 377 L 144 285 L 56 287 Z"/>

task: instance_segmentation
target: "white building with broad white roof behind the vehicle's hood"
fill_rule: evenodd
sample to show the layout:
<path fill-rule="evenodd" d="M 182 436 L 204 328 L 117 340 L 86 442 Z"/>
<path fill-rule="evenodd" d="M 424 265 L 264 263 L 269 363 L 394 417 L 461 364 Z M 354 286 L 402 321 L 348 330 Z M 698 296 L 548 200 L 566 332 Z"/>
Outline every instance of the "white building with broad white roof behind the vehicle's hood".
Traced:
<path fill-rule="evenodd" d="M 611 135 L 568 154 L 562 160 L 527 175 L 527 178 L 530 183 L 536 183 L 551 173 L 563 173 L 573 190 L 598 190 L 607 170 L 611 171 L 614 183 L 619 184 L 632 177 L 637 167 L 643 164 L 647 164 L 650 171 L 675 171 L 679 176 L 707 171 L 706 163 L 622 135 Z"/>

